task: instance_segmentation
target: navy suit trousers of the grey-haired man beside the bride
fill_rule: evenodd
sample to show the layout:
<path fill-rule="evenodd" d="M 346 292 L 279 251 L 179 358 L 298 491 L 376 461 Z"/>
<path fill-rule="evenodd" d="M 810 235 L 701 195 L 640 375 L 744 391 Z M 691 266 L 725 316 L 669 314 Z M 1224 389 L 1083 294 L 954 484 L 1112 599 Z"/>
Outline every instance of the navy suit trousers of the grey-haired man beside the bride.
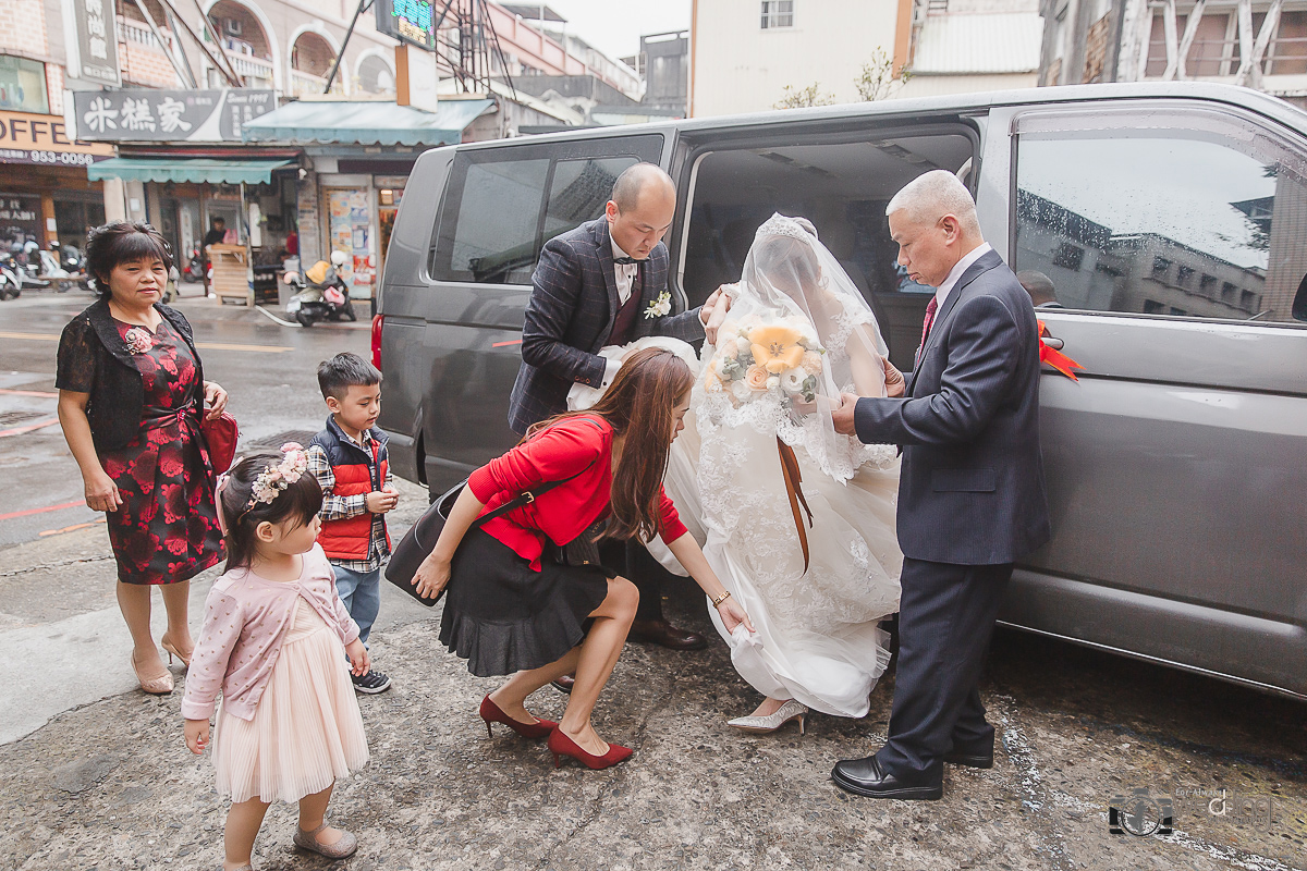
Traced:
<path fill-rule="evenodd" d="M 881 770 L 920 776 L 953 748 L 991 746 L 993 727 L 976 686 L 1012 569 L 903 559 L 894 705 L 889 740 L 876 753 Z"/>

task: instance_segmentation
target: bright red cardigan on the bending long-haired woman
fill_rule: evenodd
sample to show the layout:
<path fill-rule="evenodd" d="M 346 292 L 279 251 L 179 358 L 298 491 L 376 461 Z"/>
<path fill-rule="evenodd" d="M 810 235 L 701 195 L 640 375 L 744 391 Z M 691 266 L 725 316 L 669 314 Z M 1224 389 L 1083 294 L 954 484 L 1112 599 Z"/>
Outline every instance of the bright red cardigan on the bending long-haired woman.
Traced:
<path fill-rule="evenodd" d="M 595 424 L 599 424 L 597 427 Z M 545 482 L 572 481 L 554 487 L 528 505 L 481 526 L 540 571 L 545 537 L 566 545 L 595 521 L 606 517 L 613 491 L 613 427 L 601 417 L 567 418 L 541 430 L 524 444 L 491 460 L 468 477 L 468 487 L 485 503 L 482 515 Z M 685 534 L 676 505 L 659 487 L 660 534 L 674 542 Z"/>

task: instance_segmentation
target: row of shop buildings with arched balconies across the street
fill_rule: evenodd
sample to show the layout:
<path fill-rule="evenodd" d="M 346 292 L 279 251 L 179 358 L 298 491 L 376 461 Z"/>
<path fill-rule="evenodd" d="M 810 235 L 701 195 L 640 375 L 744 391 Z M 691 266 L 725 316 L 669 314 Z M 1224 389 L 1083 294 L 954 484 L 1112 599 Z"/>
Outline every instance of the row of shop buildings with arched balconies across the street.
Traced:
<path fill-rule="evenodd" d="M 345 249 L 371 296 L 423 149 L 584 118 L 512 81 L 642 90 L 625 64 L 494 3 L 454 0 L 439 22 L 396 5 L 7 0 L 0 234 L 80 245 L 88 226 L 149 221 L 184 266 L 222 218 L 251 285 L 288 256 Z M 421 46 L 389 35 L 414 26 Z"/>

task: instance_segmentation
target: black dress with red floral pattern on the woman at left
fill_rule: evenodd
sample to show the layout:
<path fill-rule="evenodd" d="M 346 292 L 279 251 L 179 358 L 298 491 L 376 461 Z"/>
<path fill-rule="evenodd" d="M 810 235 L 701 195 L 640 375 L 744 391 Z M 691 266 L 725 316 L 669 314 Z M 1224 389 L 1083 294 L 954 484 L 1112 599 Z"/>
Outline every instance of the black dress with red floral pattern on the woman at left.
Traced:
<path fill-rule="evenodd" d="M 114 325 L 135 351 L 145 387 L 140 432 L 99 457 L 123 499 L 106 513 L 118 577 L 124 584 L 186 581 L 222 559 L 213 466 L 200 434 L 204 385 L 191 347 L 167 319 L 153 336 L 144 326 Z"/>

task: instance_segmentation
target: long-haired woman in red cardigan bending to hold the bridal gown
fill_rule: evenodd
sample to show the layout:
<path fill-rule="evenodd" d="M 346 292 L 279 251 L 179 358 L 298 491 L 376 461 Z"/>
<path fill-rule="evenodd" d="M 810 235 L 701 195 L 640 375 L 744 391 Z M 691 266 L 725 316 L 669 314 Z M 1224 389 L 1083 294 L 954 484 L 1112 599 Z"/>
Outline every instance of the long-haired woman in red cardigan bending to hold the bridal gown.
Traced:
<path fill-rule="evenodd" d="M 603 565 L 561 564 L 553 558 L 561 546 L 600 531 L 642 541 L 660 534 L 727 628 L 742 623 L 753 631 L 663 492 L 693 381 L 690 367 L 670 351 L 633 354 L 599 405 L 536 424 L 521 444 L 468 478 L 413 578 L 427 597 L 448 584 L 440 641 L 468 659 L 472 674 L 512 675 L 481 701 L 486 729 L 499 722 L 525 738 L 548 738 L 555 765 L 571 756 L 599 769 L 631 755 L 600 739 L 589 717 L 639 603 L 635 585 Z M 565 483 L 472 526 L 549 482 Z M 527 712 L 527 696 L 572 673 L 576 684 L 562 722 Z"/>

